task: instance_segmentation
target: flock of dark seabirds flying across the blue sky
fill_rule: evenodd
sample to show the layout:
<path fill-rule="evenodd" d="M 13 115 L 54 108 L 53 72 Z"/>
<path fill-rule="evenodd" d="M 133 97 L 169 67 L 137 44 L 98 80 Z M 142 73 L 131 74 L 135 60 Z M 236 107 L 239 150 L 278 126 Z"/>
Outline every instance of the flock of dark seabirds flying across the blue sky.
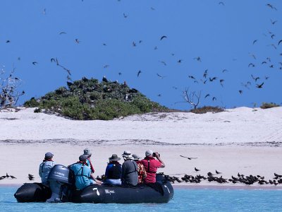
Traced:
<path fill-rule="evenodd" d="M 119 1 L 119 0 L 118 0 Z M 226 6 L 226 4 L 223 1 L 219 1 L 218 2 L 219 6 Z M 277 11 L 277 8 L 272 5 L 272 4 L 266 4 L 266 7 L 270 8 L 273 11 Z M 151 7 L 152 11 L 155 11 L 155 8 Z M 46 15 L 47 14 L 47 10 L 46 8 L 44 8 L 43 14 Z M 130 18 L 128 17 L 128 14 L 123 13 L 123 18 Z M 271 26 L 276 26 L 278 20 L 273 20 L 271 19 L 270 21 L 270 25 Z M 65 31 L 61 31 L 59 33 L 60 36 L 64 36 L 67 33 Z M 276 50 L 278 48 L 279 45 L 281 45 L 282 40 L 277 40 L 276 39 L 276 34 L 272 31 L 269 31 L 267 33 L 264 33 L 264 36 L 266 38 L 269 38 L 269 40 L 271 40 L 271 42 L 269 42 L 269 46 Z M 159 37 L 160 41 L 163 40 L 169 40 L 169 36 L 168 35 L 162 35 Z M 6 40 L 6 43 L 10 43 L 11 40 Z M 77 45 L 80 45 L 81 41 L 79 38 L 73 38 L 73 42 L 75 42 Z M 133 41 L 132 42 L 132 46 L 133 47 L 137 47 L 137 45 L 141 45 L 142 44 L 142 40 L 139 41 Z M 252 41 L 252 45 L 259 45 L 259 43 L 261 42 L 260 39 L 255 39 Z M 102 43 L 103 46 L 107 46 L 106 43 Z M 154 50 L 157 50 L 158 47 L 155 46 Z M 173 53 L 171 53 L 172 56 L 174 56 Z M 282 53 L 280 54 L 282 56 Z M 282 70 L 282 62 L 278 62 L 278 66 L 277 64 L 271 59 L 271 57 L 266 57 L 263 61 L 258 61 L 259 59 L 257 59 L 257 56 L 255 55 L 255 53 L 250 53 L 250 56 L 252 57 L 252 61 L 250 61 L 250 63 L 247 65 L 247 67 L 249 69 L 255 69 L 257 66 L 261 65 L 262 67 L 260 69 L 276 69 L 276 67 L 278 67 L 279 70 Z M 202 58 L 200 56 L 194 57 L 193 58 L 195 61 L 202 63 Z M 20 60 L 20 57 L 18 57 L 18 60 Z M 178 64 L 183 63 L 183 60 L 185 59 L 176 59 Z M 234 59 L 235 60 L 235 59 Z M 64 71 L 66 71 L 67 73 L 67 81 L 68 82 L 72 82 L 72 78 L 71 78 L 71 69 L 66 68 L 66 66 L 63 66 L 59 63 L 59 60 L 54 57 L 50 59 L 51 63 L 56 64 L 56 66 L 61 67 L 61 69 L 63 69 Z M 159 60 L 159 62 L 161 64 L 163 64 L 164 66 L 167 66 L 167 62 L 164 60 Z M 31 62 L 33 66 L 37 66 L 39 64 L 39 62 L 37 61 L 32 61 Z M 103 69 L 107 69 L 110 65 L 109 64 L 104 64 Z M 221 73 L 222 74 L 227 74 L 228 73 L 228 69 L 222 69 Z M 137 78 L 140 78 L 142 76 L 143 71 L 140 69 L 136 70 L 136 76 Z M 123 73 L 121 71 L 118 72 L 118 75 L 121 76 Z M 166 76 L 163 76 L 161 73 L 156 73 L 157 78 L 160 79 L 164 79 L 166 78 Z M 258 73 L 257 75 L 255 73 L 250 75 L 250 80 L 247 80 L 246 82 L 241 82 L 240 88 L 238 88 L 238 93 L 240 93 L 240 95 L 243 95 L 245 88 L 250 89 L 251 86 L 254 85 L 255 88 L 258 89 L 262 89 L 264 88 L 264 86 L 266 85 L 266 81 L 269 79 L 269 76 L 259 76 Z M 197 84 L 202 84 L 206 85 L 207 83 L 215 83 L 216 81 L 219 82 L 220 86 L 223 88 L 224 87 L 224 83 L 226 82 L 226 79 L 224 78 L 224 76 L 214 76 L 214 74 L 212 74 L 212 71 L 209 71 L 209 69 L 205 69 L 202 72 L 202 77 L 199 78 L 195 75 L 189 74 L 188 75 L 188 80 L 191 80 L 192 83 L 197 83 Z M 178 89 L 176 86 L 173 86 L 173 89 Z M 158 94 L 159 97 L 161 97 L 161 93 Z M 210 98 L 210 100 L 212 101 L 216 101 L 217 97 L 216 94 L 213 93 L 204 93 L 204 99 Z"/>

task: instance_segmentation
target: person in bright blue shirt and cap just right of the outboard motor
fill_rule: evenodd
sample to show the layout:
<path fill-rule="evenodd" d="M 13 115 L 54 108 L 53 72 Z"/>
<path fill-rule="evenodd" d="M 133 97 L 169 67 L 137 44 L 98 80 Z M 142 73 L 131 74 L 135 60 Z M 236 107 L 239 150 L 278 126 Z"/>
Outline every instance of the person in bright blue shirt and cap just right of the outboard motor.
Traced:
<path fill-rule="evenodd" d="M 69 166 L 75 176 L 75 187 L 78 190 L 84 189 L 90 184 L 102 184 L 101 181 L 94 178 L 86 161 L 87 155 L 80 155 L 79 161 Z"/>

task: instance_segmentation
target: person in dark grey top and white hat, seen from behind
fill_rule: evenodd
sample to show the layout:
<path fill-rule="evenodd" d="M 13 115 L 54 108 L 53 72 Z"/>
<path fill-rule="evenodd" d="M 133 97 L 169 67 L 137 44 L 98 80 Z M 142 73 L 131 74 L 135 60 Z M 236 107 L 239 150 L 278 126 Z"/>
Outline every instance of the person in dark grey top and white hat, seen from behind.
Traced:
<path fill-rule="evenodd" d="M 138 182 L 138 166 L 133 160 L 130 151 L 123 152 L 124 163 L 121 170 L 121 184 L 137 185 Z"/>

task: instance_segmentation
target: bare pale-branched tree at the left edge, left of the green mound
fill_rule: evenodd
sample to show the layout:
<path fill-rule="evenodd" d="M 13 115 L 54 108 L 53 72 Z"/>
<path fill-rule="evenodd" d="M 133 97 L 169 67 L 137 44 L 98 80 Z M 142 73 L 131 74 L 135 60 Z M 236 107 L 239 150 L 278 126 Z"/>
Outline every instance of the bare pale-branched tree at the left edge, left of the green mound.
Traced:
<path fill-rule="evenodd" d="M 18 98 L 25 94 L 24 90 L 18 92 L 21 80 L 13 76 L 14 72 L 15 69 L 7 76 L 4 69 L 0 71 L 0 109 L 15 106 Z"/>

